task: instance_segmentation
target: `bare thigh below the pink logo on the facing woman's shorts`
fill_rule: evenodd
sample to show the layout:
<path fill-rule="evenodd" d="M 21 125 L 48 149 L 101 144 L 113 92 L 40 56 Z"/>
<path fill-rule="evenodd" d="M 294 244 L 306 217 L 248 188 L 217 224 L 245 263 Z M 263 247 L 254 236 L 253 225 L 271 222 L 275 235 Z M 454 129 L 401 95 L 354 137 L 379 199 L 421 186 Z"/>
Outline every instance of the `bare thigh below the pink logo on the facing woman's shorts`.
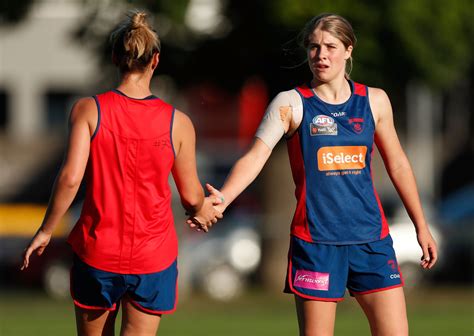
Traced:
<path fill-rule="evenodd" d="M 314 301 L 295 295 L 300 336 L 326 336 L 334 334 L 336 302 Z"/>

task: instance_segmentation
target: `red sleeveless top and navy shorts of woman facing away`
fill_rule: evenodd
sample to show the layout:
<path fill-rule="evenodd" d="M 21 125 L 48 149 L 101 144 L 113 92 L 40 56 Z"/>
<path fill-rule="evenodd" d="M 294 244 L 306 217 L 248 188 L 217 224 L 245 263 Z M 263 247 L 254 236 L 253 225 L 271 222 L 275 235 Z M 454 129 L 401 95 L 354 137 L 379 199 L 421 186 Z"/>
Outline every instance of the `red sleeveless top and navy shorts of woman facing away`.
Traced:
<path fill-rule="evenodd" d="M 88 308 L 114 309 L 128 293 L 146 311 L 173 311 L 178 244 L 168 177 L 174 108 L 155 96 L 134 99 L 118 90 L 94 99 L 99 117 L 86 198 L 68 238 L 77 255 L 71 294 Z"/>

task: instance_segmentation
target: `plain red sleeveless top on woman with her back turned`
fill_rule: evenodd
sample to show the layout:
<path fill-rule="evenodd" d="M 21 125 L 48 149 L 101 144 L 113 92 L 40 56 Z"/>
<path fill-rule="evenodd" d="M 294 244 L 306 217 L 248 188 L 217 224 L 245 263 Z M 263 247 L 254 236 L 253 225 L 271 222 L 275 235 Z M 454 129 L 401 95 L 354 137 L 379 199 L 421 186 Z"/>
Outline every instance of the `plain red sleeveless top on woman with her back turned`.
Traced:
<path fill-rule="evenodd" d="M 94 96 L 99 112 L 86 169 L 86 198 L 68 242 L 87 264 L 154 273 L 177 257 L 168 183 L 174 108 L 118 90 Z"/>

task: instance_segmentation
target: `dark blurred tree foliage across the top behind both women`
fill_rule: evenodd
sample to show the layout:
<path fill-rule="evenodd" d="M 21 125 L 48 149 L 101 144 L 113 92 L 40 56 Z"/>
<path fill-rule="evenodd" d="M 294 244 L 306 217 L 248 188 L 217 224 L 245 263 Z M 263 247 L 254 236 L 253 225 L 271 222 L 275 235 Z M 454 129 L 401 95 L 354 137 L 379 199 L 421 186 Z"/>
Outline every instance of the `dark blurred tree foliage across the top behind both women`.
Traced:
<path fill-rule="evenodd" d="M 209 80 L 236 90 L 249 76 L 259 75 L 273 95 L 306 80 L 309 72 L 301 65 L 305 53 L 295 38 L 307 20 L 323 12 L 343 15 L 353 24 L 359 37 L 353 77 L 370 85 L 392 92 L 417 79 L 444 90 L 468 76 L 473 65 L 471 0 L 199 2 L 221 8 L 227 29 L 218 34 L 190 29 L 189 21 L 199 20 L 186 17 L 195 0 L 81 1 L 89 14 L 76 37 L 97 49 L 104 65 L 110 64 L 106 37 L 125 9 L 154 13 L 165 48 L 161 71 L 181 85 Z M 32 4 L 33 0 L 0 0 L 0 23 L 19 22 Z"/>

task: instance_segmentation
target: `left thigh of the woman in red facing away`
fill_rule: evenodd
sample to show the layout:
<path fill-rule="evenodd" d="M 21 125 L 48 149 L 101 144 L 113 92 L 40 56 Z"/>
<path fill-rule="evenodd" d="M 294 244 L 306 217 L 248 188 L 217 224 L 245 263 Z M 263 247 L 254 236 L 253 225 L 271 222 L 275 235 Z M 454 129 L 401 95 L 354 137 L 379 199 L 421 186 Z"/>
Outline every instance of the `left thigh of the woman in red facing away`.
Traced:
<path fill-rule="evenodd" d="M 75 306 L 76 329 L 81 336 L 113 336 L 118 309 L 87 309 Z"/>

